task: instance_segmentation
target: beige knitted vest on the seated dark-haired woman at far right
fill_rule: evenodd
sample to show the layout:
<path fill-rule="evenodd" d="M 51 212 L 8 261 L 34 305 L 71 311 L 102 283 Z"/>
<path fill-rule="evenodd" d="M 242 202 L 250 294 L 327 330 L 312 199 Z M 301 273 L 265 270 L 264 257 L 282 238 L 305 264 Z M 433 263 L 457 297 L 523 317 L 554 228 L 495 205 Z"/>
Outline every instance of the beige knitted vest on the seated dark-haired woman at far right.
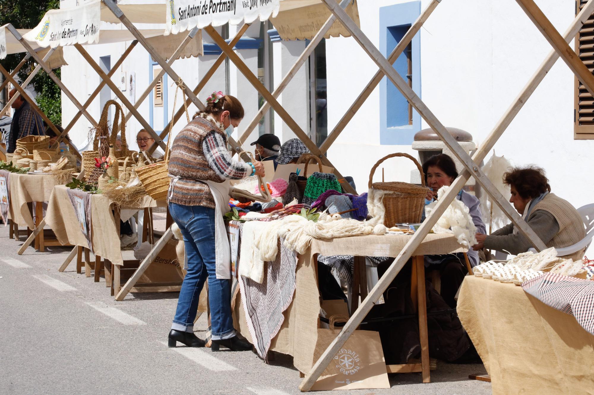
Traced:
<path fill-rule="evenodd" d="M 569 247 L 586 237 L 582 216 L 567 200 L 559 198 L 554 193 L 548 193 L 544 199 L 536 204 L 534 211 L 536 210 L 551 213 L 559 224 L 559 232 L 546 244 L 547 247 Z M 564 256 L 564 258 L 581 260 L 585 250 L 577 251 L 574 254 Z"/>

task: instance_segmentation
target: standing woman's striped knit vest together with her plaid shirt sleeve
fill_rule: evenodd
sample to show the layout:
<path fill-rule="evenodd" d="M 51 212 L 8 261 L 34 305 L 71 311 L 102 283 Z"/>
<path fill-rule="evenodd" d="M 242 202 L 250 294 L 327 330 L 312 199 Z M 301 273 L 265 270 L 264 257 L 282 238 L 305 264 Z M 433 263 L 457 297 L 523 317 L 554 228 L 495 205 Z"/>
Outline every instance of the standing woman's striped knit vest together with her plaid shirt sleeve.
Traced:
<path fill-rule="evenodd" d="M 179 176 L 170 203 L 215 208 L 210 188 L 203 181 L 221 183 L 249 176 L 252 168 L 233 160 L 225 131 L 212 120 L 195 117 L 178 133 L 171 147 L 169 174 Z"/>

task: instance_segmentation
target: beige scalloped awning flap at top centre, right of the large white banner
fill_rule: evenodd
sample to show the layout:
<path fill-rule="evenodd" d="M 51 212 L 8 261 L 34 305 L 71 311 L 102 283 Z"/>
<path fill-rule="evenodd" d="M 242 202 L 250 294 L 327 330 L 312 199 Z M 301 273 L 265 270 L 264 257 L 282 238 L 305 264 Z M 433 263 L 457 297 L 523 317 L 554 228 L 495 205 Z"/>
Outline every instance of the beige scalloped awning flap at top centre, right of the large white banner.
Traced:
<path fill-rule="evenodd" d="M 360 26 L 356 0 L 346 7 L 346 13 Z M 281 0 L 279 14 L 270 18 L 270 21 L 283 40 L 311 40 L 330 15 L 330 9 L 321 0 Z M 338 36 L 350 37 L 349 31 L 340 21 L 334 22 L 324 37 L 329 39 Z"/>

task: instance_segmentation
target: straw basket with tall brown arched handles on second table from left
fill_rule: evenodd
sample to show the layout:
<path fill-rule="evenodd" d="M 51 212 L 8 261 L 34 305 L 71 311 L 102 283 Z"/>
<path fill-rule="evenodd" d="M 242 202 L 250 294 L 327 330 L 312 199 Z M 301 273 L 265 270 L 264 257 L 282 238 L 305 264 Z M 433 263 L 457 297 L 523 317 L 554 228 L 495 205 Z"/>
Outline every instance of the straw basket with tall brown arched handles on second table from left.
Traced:
<path fill-rule="evenodd" d="M 113 117 L 113 128 L 111 137 L 109 136 L 109 126 L 108 126 L 108 115 L 109 115 L 109 106 L 115 106 L 115 116 Z M 103 106 L 103 111 L 101 113 L 101 117 L 99 119 L 99 126 L 97 128 L 91 129 L 91 133 L 94 132 L 94 139 L 93 139 L 93 150 L 92 151 L 84 151 L 81 155 L 83 157 L 83 168 L 84 168 L 84 177 L 87 181 L 91 183 L 97 182 L 101 174 L 103 174 L 103 170 L 97 168 L 95 166 L 95 158 L 100 157 L 108 157 L 109 156 L 109 145 L 115 145 L 115 139 L 118 134 L 118 126 L 119 126 L 119 114 L 121 115 L 122 122 L 124 121 L 124 115 L 122 112 L 122 107 L 115 101 L 115 100 L 108 100 Z M 125 133 L 124 133 L 125 134 Z M 124 141 L 125 137 L 122 136 L 122 148 L 124 148 Z M 118 151 L 119 152 L 119 151 Z M 117 154 L 116 154 L 117 155 Z"/>

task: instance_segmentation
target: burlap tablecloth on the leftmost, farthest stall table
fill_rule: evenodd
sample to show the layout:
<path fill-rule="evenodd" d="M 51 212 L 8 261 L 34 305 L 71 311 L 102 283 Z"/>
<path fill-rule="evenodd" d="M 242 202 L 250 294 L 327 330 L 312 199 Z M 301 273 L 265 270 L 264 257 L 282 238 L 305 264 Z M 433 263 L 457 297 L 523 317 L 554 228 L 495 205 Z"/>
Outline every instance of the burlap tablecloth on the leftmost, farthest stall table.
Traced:
<path fill-rule="evenodd" d="M 10 219 L 18 225 L 35 229 L 27 203 L 47 202 L 55 181 L 51 174 L 10 174 Z"/>

